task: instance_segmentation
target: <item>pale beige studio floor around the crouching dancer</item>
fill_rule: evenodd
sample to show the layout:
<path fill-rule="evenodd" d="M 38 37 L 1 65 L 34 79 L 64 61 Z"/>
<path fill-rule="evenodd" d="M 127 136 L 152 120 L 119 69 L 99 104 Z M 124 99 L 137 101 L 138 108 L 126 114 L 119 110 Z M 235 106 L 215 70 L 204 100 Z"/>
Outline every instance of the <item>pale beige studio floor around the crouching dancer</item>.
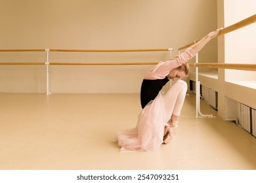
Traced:
<path fill-rule="evenodd" d="M 179 129 L 158 152 L 119 152 L 139 95 L 0 94 L 0 169 L 256 169 L 256 139 L 232 122 L 194 118 L 186 97 Z M 202 103 L 202 112 L 216 114 Z"/>

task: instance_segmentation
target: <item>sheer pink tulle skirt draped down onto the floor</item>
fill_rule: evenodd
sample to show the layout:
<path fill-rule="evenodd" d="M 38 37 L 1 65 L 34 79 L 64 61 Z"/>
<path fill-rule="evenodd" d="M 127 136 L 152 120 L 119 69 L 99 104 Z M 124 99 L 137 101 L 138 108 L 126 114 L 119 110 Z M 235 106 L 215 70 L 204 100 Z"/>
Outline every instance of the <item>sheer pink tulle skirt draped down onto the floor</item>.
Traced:
<path fill-rule="evenodd" d="M 135 128 L 117 132 L 118 146 L 121 151 L 157 151 L 163 142 L 164 127 L 167 118 L 163 93 L 150 101 L 140 112 Z"/>

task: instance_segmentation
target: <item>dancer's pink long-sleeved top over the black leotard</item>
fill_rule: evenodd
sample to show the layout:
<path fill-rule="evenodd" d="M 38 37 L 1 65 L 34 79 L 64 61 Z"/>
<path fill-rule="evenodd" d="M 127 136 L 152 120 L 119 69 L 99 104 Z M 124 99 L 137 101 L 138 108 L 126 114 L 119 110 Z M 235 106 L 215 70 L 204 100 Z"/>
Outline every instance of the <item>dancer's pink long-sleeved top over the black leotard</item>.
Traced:
<path fill-rule="evenodd" d="M 196 56 L 196 52 L 192 48 L 187 48 L 184 52 L 182 52 L 178 58 L 171 59 L 169 61 L 160 61 L 158 65 L 147 71 L 144 75 L 144 79 L 147 80 L 157 80 L 163 79 L 169 72 L 180 65 L 185 63 L 189 59 L 192 59 Z"/>

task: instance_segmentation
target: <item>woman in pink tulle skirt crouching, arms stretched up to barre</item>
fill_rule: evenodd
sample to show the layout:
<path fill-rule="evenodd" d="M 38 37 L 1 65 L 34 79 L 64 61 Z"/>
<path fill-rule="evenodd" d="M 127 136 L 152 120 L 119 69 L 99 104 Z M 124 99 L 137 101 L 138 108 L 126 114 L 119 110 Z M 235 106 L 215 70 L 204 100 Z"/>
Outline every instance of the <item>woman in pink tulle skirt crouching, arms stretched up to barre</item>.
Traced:
<path fill-rule="evenodd" d="M 117 132 L 121 151 L 156 151 L 164 142 L 167 144 L 175 135 L 181 108 L 186 96 L 187 85 L 177 80 L 166 93 L 161 88 L 171 79 L 181 79 L 188 75 L 186 63 L 196 56 L 203 46 L 219 34 L 221 29 L 208 33 L 196 44 L 187 48 L 179 57 L 160 61 L 145 75 L 140 90 L 140 112 L 137 126 Z"/>

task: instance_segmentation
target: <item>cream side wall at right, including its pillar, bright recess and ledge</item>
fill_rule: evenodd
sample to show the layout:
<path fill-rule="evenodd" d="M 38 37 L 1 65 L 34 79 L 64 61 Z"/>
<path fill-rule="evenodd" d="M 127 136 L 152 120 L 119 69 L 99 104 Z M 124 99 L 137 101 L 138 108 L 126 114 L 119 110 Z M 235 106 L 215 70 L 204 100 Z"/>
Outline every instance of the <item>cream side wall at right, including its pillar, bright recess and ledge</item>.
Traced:
<path fill-rule="evenodd" d="M 218 26 L 227 27 L 255 14 L 254 0 L 218 0 Z M 232 31 L 218 39 L 219 63 L 255 63 L 256 25 Z M 256 73 L 219 69 L 219 110 L 223 119 L 237 118 L 236 103 L 256 108 Z"/>

